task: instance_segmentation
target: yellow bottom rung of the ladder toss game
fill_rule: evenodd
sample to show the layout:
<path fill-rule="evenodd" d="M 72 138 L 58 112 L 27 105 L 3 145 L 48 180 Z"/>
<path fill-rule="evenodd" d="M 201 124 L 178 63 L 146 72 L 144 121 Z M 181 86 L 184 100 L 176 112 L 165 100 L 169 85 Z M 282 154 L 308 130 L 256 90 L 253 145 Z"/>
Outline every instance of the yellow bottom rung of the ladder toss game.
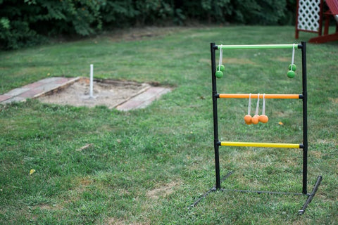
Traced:
<path fill-rule="evenodd" d="M 300 144 L 300 143 L 260 143 L 260 142 L 232 142 L 232 141 L 221 141 L 220 146 L 262 147 L 262 148 L 303 148 L 303 144 Z"/>

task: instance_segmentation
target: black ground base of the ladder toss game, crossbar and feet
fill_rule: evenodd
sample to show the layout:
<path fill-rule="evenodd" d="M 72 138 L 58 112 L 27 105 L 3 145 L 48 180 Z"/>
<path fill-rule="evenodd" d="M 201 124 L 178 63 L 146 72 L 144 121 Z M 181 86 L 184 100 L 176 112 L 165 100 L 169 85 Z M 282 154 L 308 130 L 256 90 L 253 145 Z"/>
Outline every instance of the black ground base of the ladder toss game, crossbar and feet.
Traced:
<path fill-rule="evenodd" d="M 225 181 L 233 172 L 227 173 L 221 180 L 221 182 Z M 315 186 L 313 186 L 313 190 L 311 193 L 307 193 L 308 198 L 306 199 L 306 202 L 304 203 L 303 207 L 301 207 L 301 210 L 298 210 L 298 214 L 302 215 L 304 214 L 306 208 L 308 207 L 308 204 L 311 203 L 313 200 L 313 197 L 315 196 L 315 193 L 318 190 L 318 187 L 320 185 L 320 182 L 322 181 L 322 176 L 318 176 L 317 181 L 315 182 Z M 304 195 L 303 193 L 294 193 L 294 192 L 281 192 L 281 191 L 253 191 L 253 190 L 237 190 L 237 189 L 224 189 L 224 188 L 216 188 L 216 186 L 213 186 L 210 188 L 206 193 L 204 193 L 198 200 L 196 200 L 194 203 L 188 206 L 188 209 L 190 210 L 192 207 L 196 207 L 197 204 L 201 202 L 206 196 L 208 196 L 210 193 L 215 191 L 222 191 L 222 192 L 240 192 L 240 193 L 258 193 L 258 194 L 270 194 L 270 195 Z"/>

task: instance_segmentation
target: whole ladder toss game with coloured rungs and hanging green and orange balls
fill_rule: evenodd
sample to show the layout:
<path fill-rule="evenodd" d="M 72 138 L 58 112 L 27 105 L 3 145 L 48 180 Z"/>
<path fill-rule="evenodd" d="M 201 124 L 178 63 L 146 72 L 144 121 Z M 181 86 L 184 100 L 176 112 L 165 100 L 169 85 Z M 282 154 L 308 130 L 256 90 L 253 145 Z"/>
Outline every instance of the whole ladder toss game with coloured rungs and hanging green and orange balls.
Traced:
<path fill-rule="evenodd" d="M 223 77 L 225 67 L 222 65 L 223 51 L 228 49 L 292 49 L 292 63 L 289 65 L 287 77 L 293 78 L 295 75 L 296 65 L 294 65 L 294 51 L 301 49 L 301 77 L 302 77 L 302 93 L 301 94 L 220 94 L 217 91 L 217 79 Z M 220 62 L 216 66 L 215 52 L 220 51 Z M 299 214 L 303 214 L 311 203 L 318 186 L 322 181 L 322 176 L 318 176 L 313 190 L 308 193 L 307 175 L 308 175 L 308 125 L 307 125 L 307 84 L 306 84 L 306 42 L 302 41 L 301 44 L 256 44 L 256 45 L 216 45 L 211 43 L 211 79 L 212 79 L 212 98 L 213 98 L 213 146 L 215 151 L 215 186 L 210 188 L 209 191 L 204 193 L 201 198 L 197 199 L 189 208 L 195 207 L 203 198 L 215 191 L 237 191 L 242 193 L 268 193 L 268 194 L 293 194 L 293 195 L 306 195 L 306 203 L 303 204 Z M 233 141 L 220 141 L 218 136 L 218 99 L 225 98 L 249 98 L 248 115 L 244 117 L 245 123 L 248 125 L 257 124 L 259 122 L 268 122 L 265 115 L 265 98 L 281 98 L 281 99 L 301 99 L 303 102 L 302 115 L 303 115 L 303 142 L 302 143 L 260 143 L 260 142 L 233 142 Z M 251 117 L 250 105 L 251 98 L 257 98 L 256 114 Z M 259 99 L 263 99 L 263 113 L 258 115 Z M 264 118 L 261 116 L 264 116 Z M 256 117 L 256 118 L 254 118 Z M 266 118 L 265 118 L 266 117 Z M 261 118 L 261 119 L 259 119 Z M 257 120 L 257 121 L 256 121 Z M 225 181 L 232 172 L 228 172 L 223 179 L 220 179 L 220 146 L 236 146 L 236 147 L 257 147 L 257 148 L 299 148 L 303 151 L 303 165 L 302 165 L 302 190 L 301 193 L 286 193 L 277 191 L 251 191 L 251 190 L 228 190 L 221 188 L 221 182 Z"/>

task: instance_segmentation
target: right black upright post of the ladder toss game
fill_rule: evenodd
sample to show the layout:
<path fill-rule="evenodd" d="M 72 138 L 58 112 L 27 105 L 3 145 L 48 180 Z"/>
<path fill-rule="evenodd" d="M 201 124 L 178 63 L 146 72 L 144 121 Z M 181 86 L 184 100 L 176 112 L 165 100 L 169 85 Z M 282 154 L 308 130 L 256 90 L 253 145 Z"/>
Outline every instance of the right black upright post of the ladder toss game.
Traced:
<path fill-rule="evenodd" d="M 306 42 L 301 41 L 301 70 L 303 79 L 303 194 L 307 194 L 308 176 L 308 93 L 306 87 Z"/>

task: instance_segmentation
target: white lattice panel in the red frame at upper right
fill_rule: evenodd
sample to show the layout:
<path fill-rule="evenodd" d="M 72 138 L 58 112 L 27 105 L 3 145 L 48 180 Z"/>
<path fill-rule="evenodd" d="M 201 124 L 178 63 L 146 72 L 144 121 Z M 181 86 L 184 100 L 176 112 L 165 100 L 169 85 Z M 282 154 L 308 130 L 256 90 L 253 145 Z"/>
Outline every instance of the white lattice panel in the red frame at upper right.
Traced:
<path fill-rule="evenodd" d="M 299 0 L 298 29 L 318 32 L 320 0 Z"/>

